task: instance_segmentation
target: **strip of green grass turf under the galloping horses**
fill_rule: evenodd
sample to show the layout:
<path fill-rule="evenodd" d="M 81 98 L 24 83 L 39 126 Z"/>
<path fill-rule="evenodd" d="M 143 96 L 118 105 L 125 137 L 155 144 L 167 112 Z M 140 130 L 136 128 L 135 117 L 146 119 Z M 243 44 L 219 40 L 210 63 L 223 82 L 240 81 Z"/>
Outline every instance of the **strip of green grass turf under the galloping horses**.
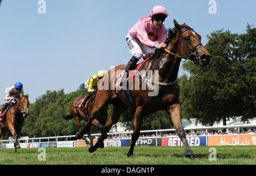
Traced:
<path fill-rule="evenodd" d="M 129 147 L 97 149 L 89 153 L 88 148 L 46 148 L 46 161 L 39 161 L 38 148 L 0 149 L 0 164 L 83 164 L 83 165 L 186 165 L 186 164 L 256 164 L 255 146 L 215 147 L 217 161 L 209 161 L 208 146 L 191 147 L 200 160 L 185 157 L 183 147 L 135 147 L 133 157 L 127 157 Z M 42 156 L 42 155 L 41 155 Z"/>

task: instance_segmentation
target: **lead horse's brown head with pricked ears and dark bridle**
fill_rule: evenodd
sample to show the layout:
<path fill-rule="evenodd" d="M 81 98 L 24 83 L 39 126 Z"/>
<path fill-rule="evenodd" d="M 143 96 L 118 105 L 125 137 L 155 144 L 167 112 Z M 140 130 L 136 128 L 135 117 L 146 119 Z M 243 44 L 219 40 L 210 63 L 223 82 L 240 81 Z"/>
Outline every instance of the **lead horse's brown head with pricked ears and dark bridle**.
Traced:
<path fill-rule="evenodd" d="M 174 42 L 179 42 L 179 54 L 200 66 L 209 65 L 210 53 L 201 44 L 201 36 L 185 23 L 180 25 L 174 20 L 174 25 L 177 29 Z"/>

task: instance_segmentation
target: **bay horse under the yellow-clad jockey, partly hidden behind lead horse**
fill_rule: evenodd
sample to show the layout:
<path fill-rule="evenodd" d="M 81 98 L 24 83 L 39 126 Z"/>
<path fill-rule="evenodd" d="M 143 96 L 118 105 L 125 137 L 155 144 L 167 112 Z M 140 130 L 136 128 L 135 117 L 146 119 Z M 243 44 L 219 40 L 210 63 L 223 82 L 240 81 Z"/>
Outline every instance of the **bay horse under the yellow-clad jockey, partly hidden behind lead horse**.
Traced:
<path fill-rule="evenodd" d="M 71 105 L 69 106 L 69 113 L 68 115 L 63 115 L 63 118 L 66 120 L 75 119 L 76 122 L 76 126 L 79 128 L 79 131 L 77 132 L 76 136 L 79 135 L 80 131 L 82 130 L 81 127 L 81 120 L 84 119 L 86 122 L 88 121 L 88 117 L 92 114 L 92 109 L 94 106 L 94 102 L 95 102 L 95 96 L 91 97 L 88 101 L 88 103 L 86 104 L 86 109 L 81 109 L 80 108 L 80 104 L 81 101 L 84 100 L 84 98 L 86 98 L 85 96 L 79 96 L 76 97 L 73 102 L 71 103 Z M 105 109 L 104 111 L 102 111 L 102 114 L 97 117 L 96 119 L 94 119 L 92 121 L 92 125 L 97 126 L 98 128 L 100 128 L 100 130 L 102 130 L 103 125 L 105 125 L 106 119 L 108 118 L 108 110 Z M 90 142 L 92 143 L 92 136 L 90 135 L 90 130 L 88 130 L 87 135 L 90 139 Z M 83 138 L 85 140 L 86 144 L 89 144 L 88 141 Z"/>

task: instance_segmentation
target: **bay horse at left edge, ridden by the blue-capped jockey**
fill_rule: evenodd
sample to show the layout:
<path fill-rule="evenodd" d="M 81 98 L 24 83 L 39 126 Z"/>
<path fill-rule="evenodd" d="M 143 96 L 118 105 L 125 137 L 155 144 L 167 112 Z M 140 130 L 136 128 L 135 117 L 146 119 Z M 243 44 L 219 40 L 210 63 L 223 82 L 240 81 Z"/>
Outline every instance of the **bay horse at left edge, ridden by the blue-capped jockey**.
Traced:
<path fill-rule="evenodd" d="M 19 97 L 16 98 L 15 103 L 6 110 L 6 122 L 0 122 L 0 138 L 6 128 L 7 130 L 10 130 L 15 139 L 15 152 L 17 148 L 20 148 L 18 138 L 20 136 L 20 132 L 22 131 L 24 118 L 26 118 L 28 115 L 29 105 L 30 101 L 28 100 L 28 94 L 23 96 L 20 93 Z"/>

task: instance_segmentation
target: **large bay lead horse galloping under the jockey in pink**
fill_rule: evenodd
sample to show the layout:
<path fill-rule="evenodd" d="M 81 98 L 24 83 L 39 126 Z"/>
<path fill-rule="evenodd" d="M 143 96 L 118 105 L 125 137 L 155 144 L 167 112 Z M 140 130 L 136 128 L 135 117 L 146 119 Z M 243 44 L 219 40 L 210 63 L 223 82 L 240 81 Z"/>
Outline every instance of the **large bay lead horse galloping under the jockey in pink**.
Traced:
<path fill-rule="evenodd" d="M 118 91 L 118 89 L 115 87 L 113 88 L 111 84 L 112 81 L 116 83 L 119 79 L 120 75 L 117 73 L 123 72 L 125 65 L 119 65 L 112 68 L 112 70 L 105 75 L 105 78 L 101 80 L 103 81 L 103 83 L 101 82 L 102 85 L 108 84 L 108 89 L 98 89 L 91 118 L 82 129 L 81 134 L 88 130 L 93 119 L 97 118 L 101 111 L 109 104 L 113 104 L 113 113 L 106 122 L 101 137 L 94 146 L 89 148 L 89 152 L 94 152 L 97 148 L 102 146 L 104 139 L 106 139 L 106 133 L 114 123 L 117 123 L 123 111 L 125 111 L 127 107 L 131 107 L 135 109 L 134 131 L 131 137 L 131 147 L 127 153 L 128 157 L 133 156 L 134 145 L 139 138 L 140 127 L 144 115 L 154 113 L 158 110 L 165 110 L 167 114 L 170 115 L 177 135 L 183 143 L 186 156 L 188 158 L 195 158 L 181 123 L 181 105 L 179 102 L 179 81 L 177 79 L 177 74 L 182 58 L 190 59 L 192 62 L 204 67 L 209 65 L 210 54 L 201 44 L 201 36 L 191 27 L 187 24 L 180 25 L 176 20 L 174 20 L 174 25 L 177 31 L 176 36 L 170 41 L 170 33 L 168 33 L 168 38 L 166 40 L 167 47 L 160 51 L 154 59 L 146 62 L 141 68 L 141 72 L 143 70 L 153 71 L 154 78 L 157 78 L 158 80 L 143 80 L 141 79 L 143 76 L 141 76 L 139 80 L 146 82 L 146 85 L 148 85 L 146 89 L 142 89 L 141 86 L 139 89 L 135 89 L 135 86 L 140 85 L 141 83 L 138 83 L 138 80 L 136 79 L 131 81 L 131 96 L 134 99 L 134 104 L 129 102 L 129 98 L 127 98 L 128 96 L 126 96 L 124 90 Z M 112 74 L 113 72 L 114 74 Z M 148 93 L 150 93 L 150 85 L 154 85 L 154 88 L 152 89 L 153 91 L 158 89 L 157 95 L 148 96 Z"/>

